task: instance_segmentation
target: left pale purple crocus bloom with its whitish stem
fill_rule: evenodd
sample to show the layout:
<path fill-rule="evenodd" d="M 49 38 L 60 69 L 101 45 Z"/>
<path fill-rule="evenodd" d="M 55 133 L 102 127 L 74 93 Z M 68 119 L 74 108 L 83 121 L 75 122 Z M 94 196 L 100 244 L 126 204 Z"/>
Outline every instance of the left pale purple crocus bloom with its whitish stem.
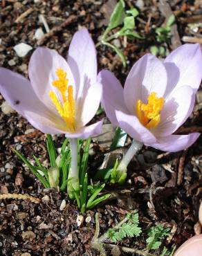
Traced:
<path fill-rule="evenodd" d="M 102 97 L 95 45 L 88 31 L 75 33 L 67 60 L 55 50 L 37 48 L 30 58 L 28 75 L 30 80 L 0 68 L 0 92 L 36 129 L 70 138 L 74 152 L 71 169 L 77 177 L 76 139 L 100 134 L 102 129 L 102 121 L 87 125 Z"/>

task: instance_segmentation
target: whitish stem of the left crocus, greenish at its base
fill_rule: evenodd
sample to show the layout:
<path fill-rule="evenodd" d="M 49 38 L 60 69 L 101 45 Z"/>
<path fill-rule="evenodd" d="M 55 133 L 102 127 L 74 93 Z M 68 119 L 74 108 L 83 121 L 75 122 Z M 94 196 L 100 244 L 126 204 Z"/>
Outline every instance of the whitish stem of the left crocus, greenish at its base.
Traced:
<path fill-rule="evenodd" d="M 68 172 L 68 195 L 73 198 L 73 192 L 80 190 L 78 170 L 78 147 L 77 138 L 69 139 L 71 149 L 71 167 Z"/>

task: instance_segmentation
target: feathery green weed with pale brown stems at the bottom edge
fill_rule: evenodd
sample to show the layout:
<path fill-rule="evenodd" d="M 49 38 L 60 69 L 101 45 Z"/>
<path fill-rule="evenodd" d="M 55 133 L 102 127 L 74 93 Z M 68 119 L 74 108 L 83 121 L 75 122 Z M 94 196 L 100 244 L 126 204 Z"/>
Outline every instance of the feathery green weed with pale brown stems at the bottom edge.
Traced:
<path fill-rule="evenodd" d="M 138 211 L 134 210 L 126 215 L 126 217 L 120 221 L 113 228 L 109 228 L 104 235 L 99 237 L 100 224 L 99 224 L 100 214 L 95 214 L 95 235 L 93 236 L 91 245 L 93 248 L 100 251 L 100 255 L 106 256 L 104 247 L 113 248 L 118 241 L 122 241 L 125 238 L 139 237 L 143 233 L 142 228 L 140 227 Z M 155 253 L 155 250 L 159 250 L 163 239 L 165 239 L 170 234 L 170 229 L 165 228 L 163 225 L 152 226 L 147 232 L 146 246 L 143 249 L 138 248 L 127 248 L 124 247 L 122 250 L 128 253 L 135 253 L 136 255 L 143 256 L 172 256 L 174 254 L 175 247 L 172 248 L 172 251 L 168 250 L 166 247 L 162 248 L 161 253 Z M 145 235 L 143 235 L 145 237 Z M 106 244 L 107 242 L 107 244 Z M 150 252 L 152 251 L 152 253 Z M 154 252 L 154 253 L 153 253 Z"/>

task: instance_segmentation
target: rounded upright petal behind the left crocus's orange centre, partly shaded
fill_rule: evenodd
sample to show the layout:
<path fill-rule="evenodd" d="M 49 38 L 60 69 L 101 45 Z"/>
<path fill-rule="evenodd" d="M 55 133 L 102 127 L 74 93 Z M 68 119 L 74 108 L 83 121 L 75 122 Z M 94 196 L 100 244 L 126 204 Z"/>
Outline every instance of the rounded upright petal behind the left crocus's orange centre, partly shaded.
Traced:
<path fill-rule="evenodd" d="M 73 93 L 75 94 L 75 82 L 71 69 L 66 60 L 64 60 L 64 58 L 55 50 L 42 47 L 37 48 L 31 56 L 28 66 L 30 82 L 37 97 L 42 100 L 48 108 L 52 108 L 56 113 L 57 111 L 50 100 L 49 92 L 54 91 L 57 98 L 61 100 L 62 96 L 60 95 L 59 90 L 52 85 L 53 81 L 58 79 L 56 75 L 58 68 L 62 68 L 67 73 L 66 78 L 68 79 L 68 84 L 73 86 Z"/>

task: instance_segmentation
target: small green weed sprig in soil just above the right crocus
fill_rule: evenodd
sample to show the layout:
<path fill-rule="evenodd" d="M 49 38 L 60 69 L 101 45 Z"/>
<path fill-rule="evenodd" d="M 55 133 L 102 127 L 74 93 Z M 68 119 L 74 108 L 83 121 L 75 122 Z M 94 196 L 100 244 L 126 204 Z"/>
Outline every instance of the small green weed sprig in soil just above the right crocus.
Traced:
<path fill-rule="evenodd" d="M 156 33 L 156 41 L 160 44 L 167 44 L 169 43 L 170 37 L 171 37 L 171 29 L 172 26 L 175 22 L 175 17 L 174 15 L 171 15 L 169 17 L 169 19 L 167 19 L 167 22 L 165 24 L 165 26 L 160 27 L 160 28 L 156 28 L 155 33 Z M 165 55 L 167 55 L 167 51 L 165 46 L 152 46 L 150 48 L 150 51 L 153 55 L 158 55 L 161 57 L 165 57 Z"/>

